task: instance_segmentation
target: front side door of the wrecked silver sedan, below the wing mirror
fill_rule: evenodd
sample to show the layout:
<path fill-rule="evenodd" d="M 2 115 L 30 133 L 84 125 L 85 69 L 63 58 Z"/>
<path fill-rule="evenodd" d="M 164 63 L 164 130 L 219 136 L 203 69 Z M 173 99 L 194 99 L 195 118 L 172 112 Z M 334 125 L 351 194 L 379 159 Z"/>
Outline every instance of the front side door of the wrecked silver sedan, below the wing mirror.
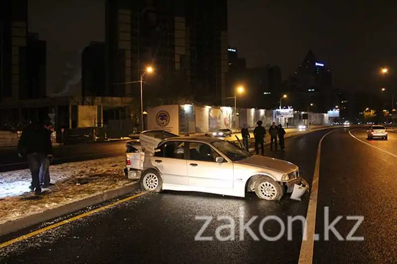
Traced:
<path fill-rule="evenodd" d="M 216 157 L 221 155 L 211 145 L 189 142 L 187 167 L 192 189 L 233 189 L 233 163 L 226 159 L 216 162 Z"/>

